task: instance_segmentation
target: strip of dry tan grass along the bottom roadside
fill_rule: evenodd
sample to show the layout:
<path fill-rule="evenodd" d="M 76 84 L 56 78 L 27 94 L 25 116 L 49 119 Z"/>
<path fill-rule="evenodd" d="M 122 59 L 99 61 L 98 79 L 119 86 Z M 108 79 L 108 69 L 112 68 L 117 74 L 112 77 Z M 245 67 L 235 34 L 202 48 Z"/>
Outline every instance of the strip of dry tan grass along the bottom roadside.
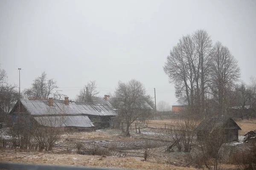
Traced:
<path fill-rule="evenodd" d="M 22 162 L 30 164 L 61 164 L 77 166 L 95 167 L 118 167 L 144 170 L 196 170 L 193 167 L 177 167 L 170 164 L 145 162 L 134 157 L 102 157 L 87 156 L 79 154 L 57 154 L 57 153 L 38 153 L 23 152 L 15 150 L 0 150 L 0 161 Z"/>

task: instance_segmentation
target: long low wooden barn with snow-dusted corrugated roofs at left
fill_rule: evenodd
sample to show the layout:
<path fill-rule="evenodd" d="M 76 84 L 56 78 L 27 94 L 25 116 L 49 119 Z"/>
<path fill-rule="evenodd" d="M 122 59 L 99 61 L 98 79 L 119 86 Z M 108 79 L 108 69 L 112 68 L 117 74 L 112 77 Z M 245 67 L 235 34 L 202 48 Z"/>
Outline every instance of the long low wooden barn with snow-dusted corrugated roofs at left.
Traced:
<path fill-rule="evenodd" d="M 68 97 L 65 100 L 20 99 L 20 107 L 17 102 L 10 114 L 13 122 L 17 117 L 29 116 L 43 126 L 75 128 L 109 126 L 110 118 L 116 115 L 107 104 L 71 102 Z"/>

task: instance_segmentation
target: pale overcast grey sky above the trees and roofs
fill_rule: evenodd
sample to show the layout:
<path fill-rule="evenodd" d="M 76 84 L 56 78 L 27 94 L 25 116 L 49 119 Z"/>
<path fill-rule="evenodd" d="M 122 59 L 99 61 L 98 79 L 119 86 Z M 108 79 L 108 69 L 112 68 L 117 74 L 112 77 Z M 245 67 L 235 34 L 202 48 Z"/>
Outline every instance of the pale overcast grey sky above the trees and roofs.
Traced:
<path fill-rule="evenodd" d="M 46 71 L 74 99 L 96 80 L 100 96 L 137 79 L 157 102 L 176 102 L 163 65 L 178 39 L 205 29 L 256 77 L 255 0 L 0 0 L 0 63 L 21 90 Z"/>

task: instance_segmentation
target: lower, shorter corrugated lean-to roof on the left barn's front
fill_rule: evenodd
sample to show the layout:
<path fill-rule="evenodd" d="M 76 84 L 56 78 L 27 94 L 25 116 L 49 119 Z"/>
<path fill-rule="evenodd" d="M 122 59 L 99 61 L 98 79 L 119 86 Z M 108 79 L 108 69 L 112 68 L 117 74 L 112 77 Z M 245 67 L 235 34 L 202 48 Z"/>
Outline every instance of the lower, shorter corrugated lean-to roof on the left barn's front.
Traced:
<path fill-rule="evenodd" d="M 94 127 L 88 116 L 41 116 L 34 119 L 43 126 L 47 127 Z"/>

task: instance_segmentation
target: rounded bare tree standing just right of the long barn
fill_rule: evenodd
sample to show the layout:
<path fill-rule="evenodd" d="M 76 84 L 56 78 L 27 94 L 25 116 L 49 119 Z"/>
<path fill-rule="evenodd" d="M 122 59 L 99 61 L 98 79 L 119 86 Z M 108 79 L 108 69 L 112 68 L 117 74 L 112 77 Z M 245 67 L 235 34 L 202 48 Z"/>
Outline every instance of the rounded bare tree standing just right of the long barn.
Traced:
<path fill-rule="evenodd" d="M 113 107 L 117 108 L 118 116 L 126 126 L 125 136 L 130 136 L 129 127 L 139 116 L 151 111 L 152 103 L 151 96 L 146 94 L 145 87 L 138 80 L 118 82 Z"/>

